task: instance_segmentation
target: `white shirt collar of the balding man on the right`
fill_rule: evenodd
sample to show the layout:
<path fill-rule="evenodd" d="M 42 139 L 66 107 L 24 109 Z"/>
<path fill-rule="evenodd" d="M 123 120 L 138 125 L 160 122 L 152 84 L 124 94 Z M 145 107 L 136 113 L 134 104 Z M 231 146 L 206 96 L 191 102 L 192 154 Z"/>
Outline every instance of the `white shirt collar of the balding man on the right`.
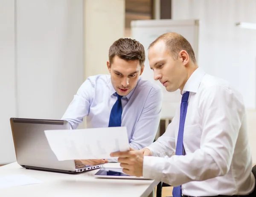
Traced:
<path fill-rule="evenodd" d="M 204 75 L 205 72 L 202 69 L 197 68 L 187 80 L 183 88 L 182 94 L 186 91 L 197 93 Z"/>

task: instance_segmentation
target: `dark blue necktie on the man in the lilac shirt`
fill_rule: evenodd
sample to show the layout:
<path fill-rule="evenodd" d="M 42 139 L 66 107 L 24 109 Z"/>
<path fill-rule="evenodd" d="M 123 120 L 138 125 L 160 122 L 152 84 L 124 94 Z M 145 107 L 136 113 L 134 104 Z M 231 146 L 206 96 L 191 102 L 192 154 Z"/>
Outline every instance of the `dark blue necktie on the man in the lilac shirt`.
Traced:
<path fill-rule="evenodd" d="M 116 93 L 116 103 L 113 105 L 110 113 L 108 127 L 121 126 L 121 118 L 122 118 L 122 103 L 119 94 Z"/>

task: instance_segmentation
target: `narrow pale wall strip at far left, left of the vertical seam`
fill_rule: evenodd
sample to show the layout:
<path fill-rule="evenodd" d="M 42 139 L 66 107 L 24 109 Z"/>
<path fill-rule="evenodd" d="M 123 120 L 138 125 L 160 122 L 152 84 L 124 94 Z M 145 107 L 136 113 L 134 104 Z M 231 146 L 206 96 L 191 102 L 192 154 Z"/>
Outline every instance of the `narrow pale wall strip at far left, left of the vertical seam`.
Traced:
<path fill-rule="evenodd" d="M 0 0 L 0 164 L 15 160 L 10 117 L 16 113 L 15 0 Z"/>

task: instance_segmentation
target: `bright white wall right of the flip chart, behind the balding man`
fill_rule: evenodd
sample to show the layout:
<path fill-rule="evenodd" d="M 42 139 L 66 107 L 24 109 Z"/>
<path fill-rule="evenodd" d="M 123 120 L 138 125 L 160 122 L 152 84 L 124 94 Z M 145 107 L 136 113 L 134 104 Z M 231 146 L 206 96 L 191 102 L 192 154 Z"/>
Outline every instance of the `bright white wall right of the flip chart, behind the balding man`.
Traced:
<path fill-rule="evenodd" d="M 255 0 L 172 0 L 172 19 L 200 20 L 199 66 L 230 81 L 243 94 L 256 164 L 256 30 L 235 26 L 256 23 L 255 8 Z"/>

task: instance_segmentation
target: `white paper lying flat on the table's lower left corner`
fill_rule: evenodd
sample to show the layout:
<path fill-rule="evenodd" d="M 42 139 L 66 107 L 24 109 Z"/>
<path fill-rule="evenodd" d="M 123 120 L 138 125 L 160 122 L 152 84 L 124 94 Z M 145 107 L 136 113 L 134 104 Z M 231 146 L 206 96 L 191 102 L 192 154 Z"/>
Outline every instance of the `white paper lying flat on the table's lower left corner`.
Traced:
<path fill-rule="evenodd" d="M 0 189 L 38 183 L 41 183 L 41 181 L 28 177 L 24 174 L 12 174 L 0 177 Z"/>

